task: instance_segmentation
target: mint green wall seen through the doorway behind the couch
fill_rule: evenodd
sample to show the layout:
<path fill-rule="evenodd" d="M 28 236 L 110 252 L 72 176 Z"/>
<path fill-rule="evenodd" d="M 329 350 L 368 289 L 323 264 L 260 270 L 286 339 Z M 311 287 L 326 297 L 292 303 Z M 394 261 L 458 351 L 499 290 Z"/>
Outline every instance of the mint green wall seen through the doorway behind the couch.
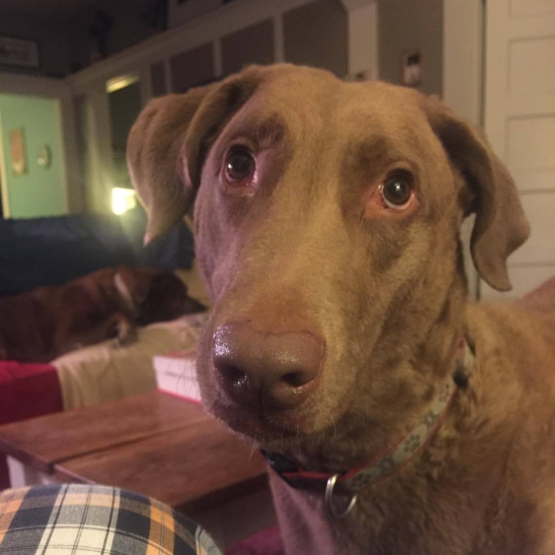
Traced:
<path fill-rule="evenodd" d="M 11 218 L 34 218 L 67 213 L 63 179 L 63 151 L 57 100 L 0 94 L 0 120 Z M 9 132 L 23 127 L 27 173 L 13 175 Z M 38 151 L 48 145 L 52 162 L 37 162 Z M 4 200 L 5 201 L 5 200 Z"/>

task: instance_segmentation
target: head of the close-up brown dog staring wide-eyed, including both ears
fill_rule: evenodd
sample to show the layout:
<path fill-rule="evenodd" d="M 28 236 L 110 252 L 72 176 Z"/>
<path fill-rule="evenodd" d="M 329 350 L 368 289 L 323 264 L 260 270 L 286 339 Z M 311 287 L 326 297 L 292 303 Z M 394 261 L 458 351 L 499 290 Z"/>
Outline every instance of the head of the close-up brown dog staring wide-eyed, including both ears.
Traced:
<path fill-rule="evenodd" d="M 499 290 L 528 235 L 477 130 L 435 98 L 322 70 L 250 67 L 153 100 L 128 163 L 150 238 L 196 198 L 214 304 L 199 349 L 204 402 L 263 442 L 349 421 L 388 436 L 450 371 L 463 218 L 476 213 L 473 261 Z M 441 326 L 453 329 L 434 343 Z"/>

